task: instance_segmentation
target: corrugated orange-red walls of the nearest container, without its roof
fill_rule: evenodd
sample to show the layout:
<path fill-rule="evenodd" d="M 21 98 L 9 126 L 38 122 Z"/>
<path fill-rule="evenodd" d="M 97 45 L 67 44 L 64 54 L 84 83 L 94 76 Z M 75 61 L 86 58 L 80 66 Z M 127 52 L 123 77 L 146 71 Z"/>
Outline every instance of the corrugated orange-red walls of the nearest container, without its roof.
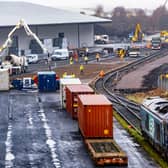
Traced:
<path fill-rule="evenodd" d="M 78 97 L 78 122 L 85 138 L 113 137 L 112 105 L 83 105 Z"/>

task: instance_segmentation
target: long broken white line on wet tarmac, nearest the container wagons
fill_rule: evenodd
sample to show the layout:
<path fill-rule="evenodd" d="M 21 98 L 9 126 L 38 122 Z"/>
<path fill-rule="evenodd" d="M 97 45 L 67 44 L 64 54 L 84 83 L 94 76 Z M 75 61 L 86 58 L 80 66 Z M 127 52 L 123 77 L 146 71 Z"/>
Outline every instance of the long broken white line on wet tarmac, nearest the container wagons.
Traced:
<path fill-rule="evenodd" d="M 61 163 L 60 163 L 60 160 L 58 159 L 58 155 L 56 153 L 56 142 L 52 138 L 52 131 L 47 123 L 48 119 L 46 118 L 46 115 L 44 113 L 42 103 L 39 103 L 39 106 L 40 106 L 40 110 L 38 111 L 39 117 L 40 117 L 41 121 L 43 122 L 43 127 L 44 127 L 45 135 L 47 138 L 46 144 L 48 145 L 48 147 L 50 149 L 52 162 L 53 162 L 55 168 L 61 168 Z"/>

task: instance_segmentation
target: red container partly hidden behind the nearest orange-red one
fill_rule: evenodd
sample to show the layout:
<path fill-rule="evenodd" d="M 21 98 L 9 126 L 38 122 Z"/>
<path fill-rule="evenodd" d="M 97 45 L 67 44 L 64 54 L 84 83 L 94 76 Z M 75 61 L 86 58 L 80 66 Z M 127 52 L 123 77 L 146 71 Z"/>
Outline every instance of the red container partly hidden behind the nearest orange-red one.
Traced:
<path fill-rule="evenodd" d="M 66 110 L 73 119 L 77 119 L 79 94 L 94 94 L 94 90 L 87 84 L 67 85 L 66 86 Z"/>

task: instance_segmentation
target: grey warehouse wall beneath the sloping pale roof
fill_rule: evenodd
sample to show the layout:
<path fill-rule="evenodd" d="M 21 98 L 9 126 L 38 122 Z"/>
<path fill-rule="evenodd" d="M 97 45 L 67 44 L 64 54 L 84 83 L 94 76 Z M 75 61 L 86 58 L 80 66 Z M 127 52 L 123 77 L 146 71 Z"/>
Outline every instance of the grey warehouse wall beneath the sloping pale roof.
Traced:
<path fill-rule="evenodd" d="M 0 28 L 0 45 L 7 39 L 12 28 Z M 40 39 L 58 38 L 59 33 L 64 33 L 70 48 L 93 46 L 94 44 L 93 24 L 41 25 L 30 28 Z M 23 28 L 17 30 L 14 35 L 18 36 L 19 51 L 25 50 L 25 54 L 30 53 L 29 44 L 32 38 L 26 35 Z"/>

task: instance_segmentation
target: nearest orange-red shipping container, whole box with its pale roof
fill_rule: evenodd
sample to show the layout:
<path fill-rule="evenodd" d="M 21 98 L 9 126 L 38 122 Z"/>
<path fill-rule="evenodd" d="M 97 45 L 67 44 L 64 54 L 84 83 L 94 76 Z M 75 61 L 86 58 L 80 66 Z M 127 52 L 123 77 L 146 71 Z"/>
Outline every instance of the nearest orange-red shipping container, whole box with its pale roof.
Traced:
<path fill-rule="evenodd" d="M 112 103 L 104 95 L 78 96 L 78 124 L 85 138 L 113 138 Z"/>

